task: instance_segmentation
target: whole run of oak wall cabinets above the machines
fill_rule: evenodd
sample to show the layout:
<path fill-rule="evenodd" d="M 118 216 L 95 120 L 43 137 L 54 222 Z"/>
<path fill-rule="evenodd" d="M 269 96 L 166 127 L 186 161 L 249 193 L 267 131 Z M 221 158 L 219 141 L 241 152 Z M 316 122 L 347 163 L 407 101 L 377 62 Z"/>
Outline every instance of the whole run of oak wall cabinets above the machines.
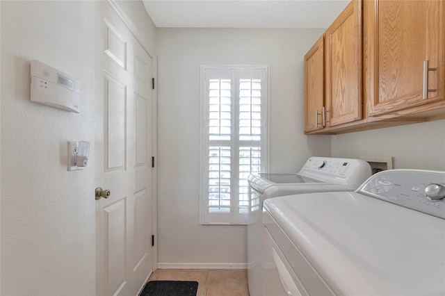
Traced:
<path fill-rule="evenodd" d="M 305 133 L 441 119 L 444 0 L 353 0 L 305 56 Z"/>

